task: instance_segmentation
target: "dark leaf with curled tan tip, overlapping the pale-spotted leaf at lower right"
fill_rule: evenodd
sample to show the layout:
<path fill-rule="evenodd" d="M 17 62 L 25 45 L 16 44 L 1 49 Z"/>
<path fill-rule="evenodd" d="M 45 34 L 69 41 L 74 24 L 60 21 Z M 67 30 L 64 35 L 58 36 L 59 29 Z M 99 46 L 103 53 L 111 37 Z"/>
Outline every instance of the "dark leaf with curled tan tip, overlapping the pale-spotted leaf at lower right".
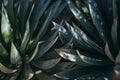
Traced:
<path fill-rule="evenodd" d="M 78 56 L 80 57 L 80 59 L 85 62 L 85 63 L 88 63 L 88 64 L 91 64 L 91 65 L 99 65 L 99 66 L 102 66 L 102 65 L 109 65 L 109 64 L 112 64 L 109 60 L 107 60 L 105 57 L 104 58 L 99 58 L 99 57 L 94 57 L 92 55 L 84 55 L 84 54 L 81 54 L 78 50 L 77 50 L 77 54 Z"/>

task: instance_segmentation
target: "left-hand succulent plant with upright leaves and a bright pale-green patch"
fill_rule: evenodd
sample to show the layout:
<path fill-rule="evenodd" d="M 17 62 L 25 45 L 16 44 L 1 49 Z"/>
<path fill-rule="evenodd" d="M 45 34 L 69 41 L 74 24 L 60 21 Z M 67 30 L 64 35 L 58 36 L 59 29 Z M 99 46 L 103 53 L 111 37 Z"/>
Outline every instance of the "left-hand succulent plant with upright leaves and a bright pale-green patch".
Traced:
<path fill-rule="evenodd" d="M 0 80 L 55 80 L 49 69 L 61 57 L 53 47 L 58 42 L 58 31 L 51 22 L 58 21 L 66 3 L 0 1 Z"/>

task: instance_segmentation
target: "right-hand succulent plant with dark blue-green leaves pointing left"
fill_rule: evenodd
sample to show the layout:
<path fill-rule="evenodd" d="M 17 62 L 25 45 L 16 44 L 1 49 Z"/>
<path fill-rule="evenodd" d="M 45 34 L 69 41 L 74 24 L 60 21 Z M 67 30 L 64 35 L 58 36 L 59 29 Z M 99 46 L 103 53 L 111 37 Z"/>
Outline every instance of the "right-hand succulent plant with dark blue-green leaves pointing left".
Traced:
<path fill-rule="evenodd" d="M 65 44 L 56 52 L 65 59 L 66 68 L 54 76 L 71 80 L 119 80 L 120 1 L 66 2 L 73 17 L 61 24 L 53 22 Z"/>

